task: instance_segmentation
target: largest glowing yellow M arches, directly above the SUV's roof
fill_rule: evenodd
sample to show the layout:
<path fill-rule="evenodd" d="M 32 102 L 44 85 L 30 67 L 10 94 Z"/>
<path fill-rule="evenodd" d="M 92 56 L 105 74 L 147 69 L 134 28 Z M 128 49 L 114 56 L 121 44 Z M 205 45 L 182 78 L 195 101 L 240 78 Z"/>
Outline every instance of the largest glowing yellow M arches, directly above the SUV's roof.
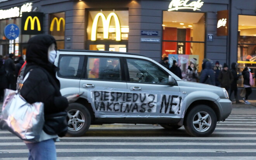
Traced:
<path fill-rule="evenodd" d="M 91 40 L 96 41 L 97 25 L 98 25 L 98 21 L 99 21 L 100 17 L 101 17 L 102 23 L 103 23 L 103 38 L 104 39 L 109 38 L 110 21 L 111 21 L 111 18 L 114 17 L 115 26 L 116 26 L 116 41 L 121 41 L 121 26 L 120 26 L 118 16 L 114 12 L 111 12 L 107 16 L 107 19 L 106 19 L 105 15 L 103 13 L 96 14 L 96 16 L 93 20 L 93 23 L 92 23 Z"/>

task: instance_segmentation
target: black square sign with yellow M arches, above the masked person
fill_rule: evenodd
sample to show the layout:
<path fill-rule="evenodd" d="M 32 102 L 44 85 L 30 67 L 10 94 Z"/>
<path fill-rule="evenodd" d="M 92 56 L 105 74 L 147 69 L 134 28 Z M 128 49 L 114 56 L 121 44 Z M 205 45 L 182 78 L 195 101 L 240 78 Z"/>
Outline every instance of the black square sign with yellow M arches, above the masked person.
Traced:
<path fill-rule="evenodd" d="M 21 34 L 42 34 L 43 13 L 24 12 L 21 18 Z"/>

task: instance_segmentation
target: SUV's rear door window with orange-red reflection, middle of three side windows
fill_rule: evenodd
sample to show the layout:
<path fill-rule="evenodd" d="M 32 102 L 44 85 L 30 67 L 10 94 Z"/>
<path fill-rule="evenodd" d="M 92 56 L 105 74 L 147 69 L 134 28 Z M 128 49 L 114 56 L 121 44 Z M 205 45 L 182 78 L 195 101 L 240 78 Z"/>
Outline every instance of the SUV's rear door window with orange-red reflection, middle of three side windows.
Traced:
<path fill-rule="evenodd" d="M 88 57 L 86 71 L 88 79 L 121 81 L 119 58 Z"/>

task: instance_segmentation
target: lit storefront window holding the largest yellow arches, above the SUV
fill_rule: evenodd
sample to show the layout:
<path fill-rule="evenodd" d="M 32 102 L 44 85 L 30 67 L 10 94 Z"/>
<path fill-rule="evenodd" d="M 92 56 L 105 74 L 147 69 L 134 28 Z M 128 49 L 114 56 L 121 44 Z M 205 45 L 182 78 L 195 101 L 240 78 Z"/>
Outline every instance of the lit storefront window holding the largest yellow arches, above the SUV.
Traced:
<path fill-rule="evenodd" d="M 129 33 L 128 18 L 128 10 L 89 11 L 87 47 L 90 50 L 126 52 Z"/>

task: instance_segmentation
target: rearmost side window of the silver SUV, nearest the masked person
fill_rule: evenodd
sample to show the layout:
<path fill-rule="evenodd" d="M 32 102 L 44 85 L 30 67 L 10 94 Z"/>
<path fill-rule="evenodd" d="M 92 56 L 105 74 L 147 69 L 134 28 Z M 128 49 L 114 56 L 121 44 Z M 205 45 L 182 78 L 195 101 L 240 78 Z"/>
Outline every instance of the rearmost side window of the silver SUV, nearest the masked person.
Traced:
<path fill-rule="evenodd" d="M 58 76 L 80 78 L 83 69 L 84 56 L 61 55 L 59 58 Z"/>

